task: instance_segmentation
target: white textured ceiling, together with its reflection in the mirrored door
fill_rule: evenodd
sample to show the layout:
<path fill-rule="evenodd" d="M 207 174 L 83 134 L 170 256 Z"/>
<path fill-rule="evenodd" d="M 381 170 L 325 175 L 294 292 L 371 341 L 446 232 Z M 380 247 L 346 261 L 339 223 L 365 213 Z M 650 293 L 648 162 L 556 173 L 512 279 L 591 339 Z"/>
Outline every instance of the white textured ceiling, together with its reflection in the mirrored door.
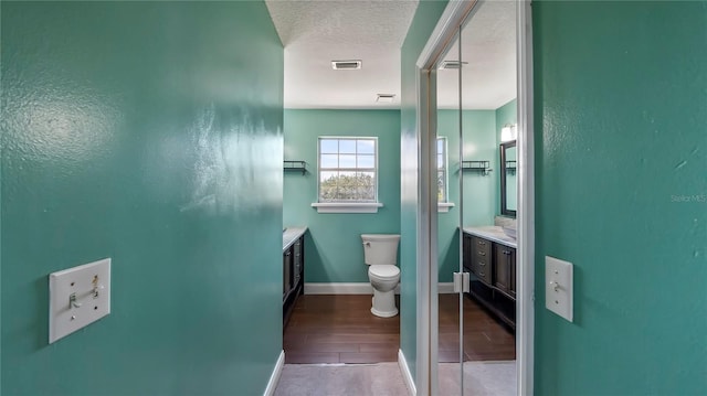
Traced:
<path fill-rule="evenodd" d="M 400 47 L 418 7 L 407 0 L 267 0 L 285 46 L 285 108 L 400 108 Z M 516 95 L 515 2 L 474 11 L 462 36 L 464 108 L 495 109 Z M 444 60 L 456 60 L 450 52 Z M 331 61 L 361 60 L 357 71 Z M 455 71 L 439 73 L 439 105 L 458 100 Z M 377 94 L 394 94 L 376 103 Z"/>

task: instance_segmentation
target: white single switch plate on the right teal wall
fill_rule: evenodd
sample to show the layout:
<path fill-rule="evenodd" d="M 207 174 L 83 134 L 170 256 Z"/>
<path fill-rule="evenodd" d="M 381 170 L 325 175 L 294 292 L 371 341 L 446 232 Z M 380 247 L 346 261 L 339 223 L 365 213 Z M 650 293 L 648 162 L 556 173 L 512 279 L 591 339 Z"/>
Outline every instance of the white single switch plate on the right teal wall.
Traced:
<path fill-rule="evenodd" d="M 572 263 L 545 257 L 545 308 L 572 321 Z"/>

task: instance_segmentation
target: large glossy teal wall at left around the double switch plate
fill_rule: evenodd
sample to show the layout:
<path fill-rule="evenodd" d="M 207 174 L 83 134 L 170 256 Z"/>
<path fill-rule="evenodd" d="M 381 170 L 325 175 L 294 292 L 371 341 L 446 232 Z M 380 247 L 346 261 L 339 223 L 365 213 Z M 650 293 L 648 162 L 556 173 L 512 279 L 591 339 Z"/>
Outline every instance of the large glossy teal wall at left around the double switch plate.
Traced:
<path fill-rule="evenodd" d="M 282 350 L 265 4 L 1 8 L 1 393 L 262 394 Z M 48 345 L 48 274 L 103 257 L 112 313 Z"/>

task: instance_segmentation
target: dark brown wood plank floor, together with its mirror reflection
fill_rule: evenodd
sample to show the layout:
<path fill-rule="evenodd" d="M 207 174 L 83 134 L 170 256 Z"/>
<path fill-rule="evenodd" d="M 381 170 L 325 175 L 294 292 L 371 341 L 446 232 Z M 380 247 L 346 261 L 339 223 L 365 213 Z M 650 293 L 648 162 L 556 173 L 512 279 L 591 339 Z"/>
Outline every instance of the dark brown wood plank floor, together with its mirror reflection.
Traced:
<path fill-rule="evenodd" d="M 399 306 L 400 307 L 400 306 Z M 305 295 L 285 327 L 285 363 L 397 362 L 400 315 L 378 318 L 371 296 Z M 513 332 L 464 299 L 464 360 L 515 358 Z M 458 297 L 440 295 L 440 362 L 458 362 Z"/>

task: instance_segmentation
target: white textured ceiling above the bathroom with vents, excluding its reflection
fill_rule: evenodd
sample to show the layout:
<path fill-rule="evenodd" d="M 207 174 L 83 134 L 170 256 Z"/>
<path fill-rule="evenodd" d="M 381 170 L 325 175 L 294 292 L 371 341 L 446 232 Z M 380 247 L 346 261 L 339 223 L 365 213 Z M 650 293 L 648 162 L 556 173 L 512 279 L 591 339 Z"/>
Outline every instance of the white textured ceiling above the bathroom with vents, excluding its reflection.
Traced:
<path fill-rule="evenodd" d="M 400 47 L 416 1 L 266 1 L 285 46 L 285 108 L 399 108 Z M 335 71 L 331 61 L 361 60 Z M 376 103 L 377 94 L 394 94 Z"/>

